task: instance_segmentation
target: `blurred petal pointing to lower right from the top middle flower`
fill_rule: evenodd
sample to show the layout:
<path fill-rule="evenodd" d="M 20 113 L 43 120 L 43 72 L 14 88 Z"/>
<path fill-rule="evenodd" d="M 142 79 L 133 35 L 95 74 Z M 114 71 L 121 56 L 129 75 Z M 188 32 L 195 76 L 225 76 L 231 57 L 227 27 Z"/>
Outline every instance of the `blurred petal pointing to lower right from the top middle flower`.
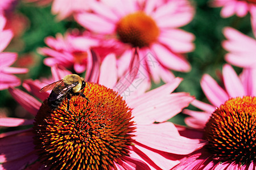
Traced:
<path fill-rule="evenodd" d="M 162 65 L 168 67 L 168 69 L 176 71 L 189 71 L 191 66 L 188 61 L 180 54 L 172 53 L 163 45 L 154 44 L 152 50 L 155 52 L 156 57 L 159 59 Z"/>

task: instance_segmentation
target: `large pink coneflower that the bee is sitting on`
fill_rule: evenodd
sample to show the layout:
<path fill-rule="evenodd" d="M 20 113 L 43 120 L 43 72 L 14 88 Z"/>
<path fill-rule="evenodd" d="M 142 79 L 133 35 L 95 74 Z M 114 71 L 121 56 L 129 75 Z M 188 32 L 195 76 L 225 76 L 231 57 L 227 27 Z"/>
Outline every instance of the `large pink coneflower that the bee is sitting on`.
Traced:
<path fill-rule="evenodd" d="M 64 70 L 53 70 L 56 77 L 64 73 Z M 105 81 L 106 84 L 113 82 Z M 36 117 L 31 129 L 1 134 L 0 167 L 170 169 L 179 163 L 171 152 L 186 147 L 187 151 L 183 154 L 188 154 L 190 148 L 199 143 L 198 140 L 188 139 L 186 145 L 168 147 L 170 143 L 179 143 L 183 137 L 172 137 L 177 130 L 171 122 L 154 124 L 168 120 L 193 100 L 184 92 L 171 94 L 180 82 L 181 79 L 176 78 L 127 101 L 110 88 L 88 82 L 90 90 L 86 86 L 83 93 L 90 102 L 80 95 L 73 96 L 69 101 L 69 111 L 66 99 L 56 111 L 51 111 L 46 101 L 42 104 L 26 92 L 10 88 L 14 99 Z M 38 81 L 25 83 L 28 91 L 39 94 L 42 86 Z M 41 100 L 46 96 L 37 95 Z M 32 120 L 20 118 L 0 119 L 1 126 L 31 124 Z"/>

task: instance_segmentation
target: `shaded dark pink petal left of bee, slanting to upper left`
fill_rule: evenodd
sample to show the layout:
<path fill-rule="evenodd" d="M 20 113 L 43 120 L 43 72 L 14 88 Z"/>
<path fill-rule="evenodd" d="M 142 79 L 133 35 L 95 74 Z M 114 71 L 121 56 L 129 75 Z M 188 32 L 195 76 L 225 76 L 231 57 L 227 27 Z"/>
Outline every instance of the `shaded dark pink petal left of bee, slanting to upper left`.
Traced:
<path fill-rule="evenodd" d="M 38 110 L 42 103 L 40 103 L 34 97 L 28 95 L 26 92 L 11 87 L 9 88 L 9 92 L 14 97 L 14 99 L 32 115 L 35 116 L 36 113 L 38 113 Z"/>

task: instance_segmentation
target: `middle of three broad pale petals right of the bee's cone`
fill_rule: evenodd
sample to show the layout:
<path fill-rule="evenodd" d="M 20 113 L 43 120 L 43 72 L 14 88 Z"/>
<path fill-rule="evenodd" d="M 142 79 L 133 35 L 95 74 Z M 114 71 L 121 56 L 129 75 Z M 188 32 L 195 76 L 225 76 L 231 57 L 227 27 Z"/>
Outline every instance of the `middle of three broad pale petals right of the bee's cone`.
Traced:
<path fill-rule="evenodd" d="M 145 100 L 141 105 L 133 108 L 134 120 L 139 125 L 167 121 L 183 108 L 188 107 L 193 99 L 194 97 L 189 94 L 180 92 Z"/>

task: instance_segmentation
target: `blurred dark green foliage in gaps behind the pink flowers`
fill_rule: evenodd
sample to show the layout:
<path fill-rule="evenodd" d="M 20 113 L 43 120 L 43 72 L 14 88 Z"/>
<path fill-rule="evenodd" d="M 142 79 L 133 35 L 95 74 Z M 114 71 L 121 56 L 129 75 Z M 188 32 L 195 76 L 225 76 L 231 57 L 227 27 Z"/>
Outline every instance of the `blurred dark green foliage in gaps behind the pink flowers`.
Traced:
<path fill-rule="evenodd" d="M 214 79 L 220 82 L 217 74 L 221 73 L 222 66 L 225 63 L 224 54 L 226 51 L 221 46 L 221 41 L 225 38 L 222 35 L 222 29 L 226 26 L 233 27 L 246 35 L 253 36 L 251 32 L 250 18 L 232 16 L 230 18 L 221 18 L 221 8 L 209 7 L 208 1 L 193 1 L 196 7 L 196 15 L 191 23 L 183 27 L 185 31 L 191 32 L 196 36 L 195 51 L 188 53 L 188 61 L 191 63 L 192 70 L 189 73 L 174 72 L 176 76 L 184 78 L 176 92 L 189 92 L 196 99 L 208 102 L 201 87 L 200 79 L 203 74 L 208 73 Z M 38 7 L 33 3 L 22 3 L 16 6 L 15 12 L 21 13 L 28 19 L 28 27 L 22 33 L 19 39 L 14 39 L 6 51 L 16 52 L 19 59 L 30 54 L 34 58 L 34 64 L 28 66 L 30 71 L 26 75 L 17 75 L 21 79 L 37 79 L 41 76 L 49 76 L 50 69 L 43 65 L 43 56 L 40 56 L 36 50 L 39 47 L 46 46 L 44 39 L 47 36 L 55 36 L 56 33 L 65 33 L 69 28 L 81 27 L 72 22 L 72 20 L 63 20 L 57 22 L 54 15 L 51 14 L 51 6 Z M 15 63 L 13 66 L 18 66 Z M 235 68 L 237 73 L 241 69 Z M 152 88 L 160 84 L 153 84 Z M 19 87 L 22 88 L 22 87 Z M 0 108 L 4 108 L 10 117 L 15 117 L 15 112 L 22 111 L 20 106 L 13 100 L 7 90 L 0 91 Z M 28 114 L 24 113 L 24 117 Z M 171 121 L 178 124 L 184 124 L 183 115 L 175 116 Z"/>

